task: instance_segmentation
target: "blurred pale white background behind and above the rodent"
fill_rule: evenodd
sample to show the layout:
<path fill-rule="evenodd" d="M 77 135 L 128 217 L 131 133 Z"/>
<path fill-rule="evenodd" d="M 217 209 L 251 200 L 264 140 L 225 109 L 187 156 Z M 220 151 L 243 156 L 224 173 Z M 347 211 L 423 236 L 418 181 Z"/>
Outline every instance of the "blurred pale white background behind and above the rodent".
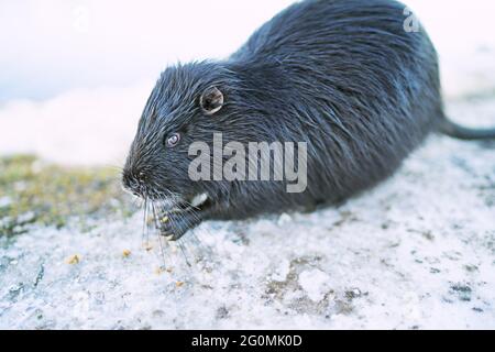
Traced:
<path fill-rule="evenodd" d="M 0 154 L 119 165 L 168 64 L 226 57 L 292 2 L 1 0 Z M 495 2 L 406 3 L 439 51 L 446 96 L 493 91 Z"/>

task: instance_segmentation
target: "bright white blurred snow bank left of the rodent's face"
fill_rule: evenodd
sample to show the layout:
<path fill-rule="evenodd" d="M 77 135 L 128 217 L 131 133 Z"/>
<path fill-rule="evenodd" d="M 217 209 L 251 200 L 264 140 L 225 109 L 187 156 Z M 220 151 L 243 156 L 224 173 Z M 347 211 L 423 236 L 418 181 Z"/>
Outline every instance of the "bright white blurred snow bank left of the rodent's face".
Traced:
<path fill-rule="evenodd" d="M 33 153 L 63 164 L 121 166 L 153 84 L 78 89 L 0 108 L 0 154 Z"/>

